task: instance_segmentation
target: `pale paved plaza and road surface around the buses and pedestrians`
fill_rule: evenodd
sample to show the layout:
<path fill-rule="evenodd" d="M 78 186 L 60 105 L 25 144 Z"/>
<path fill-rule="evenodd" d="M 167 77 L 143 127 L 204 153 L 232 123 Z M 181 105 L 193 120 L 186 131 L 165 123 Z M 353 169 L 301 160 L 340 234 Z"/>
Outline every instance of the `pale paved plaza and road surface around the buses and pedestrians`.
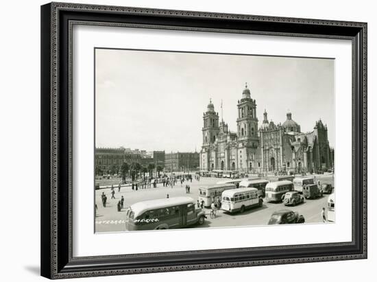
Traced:
<path fill-rule="evenodd" d="M 332 175 L 320 175 L 317 179 L 321 183 L 333 184 Z M 192 183 L 185 182 L 182 187 L 180 183 L 175 187 L 162 187 L 162 185 L 156 188 L 139 189 L 138 191 L 132 191 L 130 187 L 121 187 L 121 192 L 115 188 L 115 199 L 111 199 L 110 189 L 101 189 L 96 191 L 95 202 L 97 204 L 97 216 L 95 218 L 95 230 L 96 232 L 119 232 L 125 231 L 125 209 L 135 202 L 141 202 L 143 200 L 154 200 L 158 198 L 166 198 L 176 196 L 190 196 L 197 201 L 199 187 L 215 184 L 219 178 L 200 178 L 200 181 L 193 180 Z M 186 194 L 185 186 L 189 184 L 191 187 L 191 193 Z M 102 207 L 101 193 L 104 192 L 108 197 L 108 204 L 106 207 Z M 117 211 L 117 202 L 121 196 L 125 198 L 124 209 Z M 305 200 L 303 204 L 298 204 L 296 207 L 285 207 L 282 203 L 264 202 L 263 207 L 258 207 L 245 211 L 244 213 L 223 213 L 219 211 L 217 217 L 210 219 L 208 216 L 206 223 L 202 226 L 194 226 L 195 228 L 206 227 L 224 227 L 224 226 L 250 226 L 250 225 L 264 225 L 267 224 L 269 217 L 273 211 L 280 209 L 291 209 L 304 215 L 305 221 L 308 223 L 321 222 L 321 209 L 327 207 L 328 195 L 324 195 L 322 198 L 316 200 Z M 209 209 L 204 209 L 208 213 Z"/>

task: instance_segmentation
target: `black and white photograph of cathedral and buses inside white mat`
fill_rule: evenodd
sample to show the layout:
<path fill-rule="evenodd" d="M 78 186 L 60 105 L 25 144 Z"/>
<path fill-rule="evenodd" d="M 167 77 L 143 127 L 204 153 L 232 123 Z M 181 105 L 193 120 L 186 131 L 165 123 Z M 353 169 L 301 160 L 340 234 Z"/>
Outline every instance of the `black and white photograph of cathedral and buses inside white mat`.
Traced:
<path fill-rule="evenodd" d="M 94 54 L 95 233 L 335 222 L 334 58 Z"/>

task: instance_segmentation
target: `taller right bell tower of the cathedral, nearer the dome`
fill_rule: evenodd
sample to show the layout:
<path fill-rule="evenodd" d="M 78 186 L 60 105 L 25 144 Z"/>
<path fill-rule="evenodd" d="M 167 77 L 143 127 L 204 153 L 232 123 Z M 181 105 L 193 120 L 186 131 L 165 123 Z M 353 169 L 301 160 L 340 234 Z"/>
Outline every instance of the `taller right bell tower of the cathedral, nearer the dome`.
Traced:
<path fill-rule="evenodd" d="M 250 96 L 250 89 L 245 84 L 242 99 L 237 104 L 237 137 L 239 141 L 258 144 L 258 119 L 256 118 L 256 102 Z"/>

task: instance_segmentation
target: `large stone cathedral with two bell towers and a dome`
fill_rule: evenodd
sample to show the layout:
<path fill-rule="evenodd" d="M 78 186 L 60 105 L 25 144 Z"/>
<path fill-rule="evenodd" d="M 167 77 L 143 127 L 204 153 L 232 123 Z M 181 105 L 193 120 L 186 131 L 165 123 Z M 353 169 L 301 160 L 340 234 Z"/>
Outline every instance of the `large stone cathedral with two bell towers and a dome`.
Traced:
<path fill-rule="evenodd" d="M 263 113 L 258 127 L 256 100 L 245 85 L 237 103 L 237 132 L 219 122 L 210 101 L 203 115 L 203 145 L 200 169 L 229 170 L 240 173 L 318 172 L 333 168 L 334 150 L 328 143 L 327 126 L 319 119 L 312 132 L 301 132 L 300 125 L 287 113 L 283 124 L 274 124 Z"/>

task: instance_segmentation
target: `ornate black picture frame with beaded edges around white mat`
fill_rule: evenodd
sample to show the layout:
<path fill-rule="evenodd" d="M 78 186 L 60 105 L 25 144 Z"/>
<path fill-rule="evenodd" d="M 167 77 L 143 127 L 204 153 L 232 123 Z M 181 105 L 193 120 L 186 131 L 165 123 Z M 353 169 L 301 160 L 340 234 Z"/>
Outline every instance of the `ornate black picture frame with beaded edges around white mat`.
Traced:
<path fill-rule="evenodd" d="M 73 25 L 352 40 L 352 242 L 73 257 Z M 367 258 L 367 23 L 49 3 L 41 7 L 41 69 L 42 276 L 62 279 Z"/>

